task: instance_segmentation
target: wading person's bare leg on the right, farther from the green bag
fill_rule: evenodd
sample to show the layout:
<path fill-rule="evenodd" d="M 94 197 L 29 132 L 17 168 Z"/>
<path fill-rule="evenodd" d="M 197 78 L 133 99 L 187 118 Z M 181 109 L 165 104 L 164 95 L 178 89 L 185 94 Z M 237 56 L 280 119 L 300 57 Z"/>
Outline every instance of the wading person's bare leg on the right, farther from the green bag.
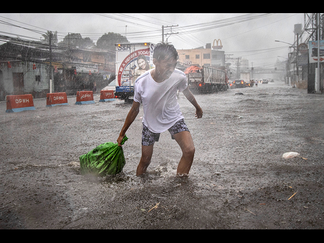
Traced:
<path fill-rule="evenodd" d="M 182 150 L 182 157 L 177 168 L 177 176 L 188 176 L 195 152 L 191 134 L 184 131 L 173 135 L 173 137 Z"/>

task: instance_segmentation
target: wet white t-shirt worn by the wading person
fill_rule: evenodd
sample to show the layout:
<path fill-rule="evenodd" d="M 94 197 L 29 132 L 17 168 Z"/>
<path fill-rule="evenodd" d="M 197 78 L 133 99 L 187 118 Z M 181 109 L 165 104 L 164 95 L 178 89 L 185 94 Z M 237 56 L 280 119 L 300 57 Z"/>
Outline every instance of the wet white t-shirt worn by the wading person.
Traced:
<path fill-rule="evenodd" d="M 156 83 L 151 70 L 138 77 L 134 86 L 134 101 L 143 104 L 144 125 L 153 133 L 163 133 L 184 118 L 177 101 L 177 91 L 188 87 L 184 72 L 175 69 L 162 83 Z"/>

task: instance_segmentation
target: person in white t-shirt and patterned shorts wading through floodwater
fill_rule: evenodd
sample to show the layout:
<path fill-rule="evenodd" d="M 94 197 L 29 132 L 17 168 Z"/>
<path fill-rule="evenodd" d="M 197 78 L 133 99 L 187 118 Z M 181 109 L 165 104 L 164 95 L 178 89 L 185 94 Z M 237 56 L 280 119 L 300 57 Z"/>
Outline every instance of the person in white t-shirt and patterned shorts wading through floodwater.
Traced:
<path fill-rule="evenodd" d="M 138 77 L 134 85 L 134 102 L 129 111 L 123 129 L 117 139 L 118 145 L 125 137 L 126 131 L 139 113 L 143 104 L 142 156 L 136 175 L 146 172 L 151 162 L 154 142 L 160 133 L 169 131 L 182 150 L 177 176 L 188 176 L 195 148 L 191 134 L 184 123 L 184 117 L 177 101 L 177 91 L 182 92 L 196 108 L 195 116 L 201 118 L 203 110 L 188 89 L 184 72 L 176 69 L 178 53 L 172 45 L 157 44 L 153 53 L 154 69 L 150 69 Z"/>

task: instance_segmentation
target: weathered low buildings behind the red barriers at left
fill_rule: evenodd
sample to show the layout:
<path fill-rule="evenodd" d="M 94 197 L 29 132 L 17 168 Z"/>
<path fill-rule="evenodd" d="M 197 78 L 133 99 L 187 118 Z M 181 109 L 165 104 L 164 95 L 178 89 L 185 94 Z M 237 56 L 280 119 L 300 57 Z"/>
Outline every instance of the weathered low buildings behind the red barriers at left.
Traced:
<path fill-rule="evenodd" d="M 114 78 L 114 52 L 54 46 L 50 52 L 41 45 L 7 42 L 0 46 L 0 101 L 19 94 L 45 98 L 50 87 L 52 93 L 96 93 Z"/>

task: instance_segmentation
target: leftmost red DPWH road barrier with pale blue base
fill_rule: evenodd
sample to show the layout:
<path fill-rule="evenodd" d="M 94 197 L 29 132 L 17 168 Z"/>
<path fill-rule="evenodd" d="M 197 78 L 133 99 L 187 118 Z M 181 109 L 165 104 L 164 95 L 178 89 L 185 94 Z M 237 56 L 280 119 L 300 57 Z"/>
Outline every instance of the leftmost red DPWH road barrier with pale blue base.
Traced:
<path fill-rule="evenodd" d="M 7 95 L 6 112 L 35 110 L 32 95 Z"/>

